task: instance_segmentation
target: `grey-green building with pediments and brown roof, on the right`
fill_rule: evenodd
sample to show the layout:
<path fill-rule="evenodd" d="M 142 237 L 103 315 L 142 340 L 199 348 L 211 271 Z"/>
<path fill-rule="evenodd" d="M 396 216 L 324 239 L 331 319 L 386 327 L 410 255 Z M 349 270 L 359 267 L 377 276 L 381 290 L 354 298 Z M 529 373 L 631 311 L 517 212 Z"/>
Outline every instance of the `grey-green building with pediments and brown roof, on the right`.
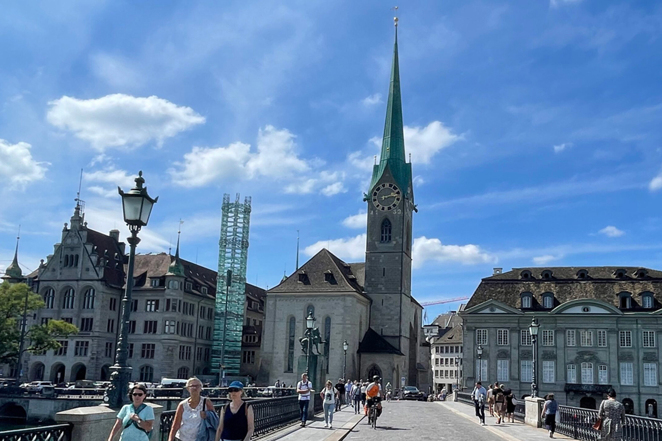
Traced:
<path fill-rule="evenodd" d="M 465 384 L 480 376 L 530 395 L 535 316 L 540 396 L 553 392 L 561 404 L 594 409 L 613 387 L 628 413 L 657 417 L 661 300 L 662 271 L 646 268 L 495 271 L 461 313 Z"/>

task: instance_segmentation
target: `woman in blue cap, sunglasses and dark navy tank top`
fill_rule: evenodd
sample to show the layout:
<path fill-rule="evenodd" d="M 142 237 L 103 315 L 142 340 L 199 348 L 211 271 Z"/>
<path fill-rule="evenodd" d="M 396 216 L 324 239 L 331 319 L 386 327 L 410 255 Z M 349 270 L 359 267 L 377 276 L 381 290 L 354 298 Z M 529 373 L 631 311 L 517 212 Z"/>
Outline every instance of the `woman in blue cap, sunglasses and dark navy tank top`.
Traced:
<path fill-rule="evenodd" d="M 232 381 L 228 387 L 230 403 L 220 411 L 216 441 L 250 441 L 255 431 L 253 407 L 242 400 L 244 385 Z"/>

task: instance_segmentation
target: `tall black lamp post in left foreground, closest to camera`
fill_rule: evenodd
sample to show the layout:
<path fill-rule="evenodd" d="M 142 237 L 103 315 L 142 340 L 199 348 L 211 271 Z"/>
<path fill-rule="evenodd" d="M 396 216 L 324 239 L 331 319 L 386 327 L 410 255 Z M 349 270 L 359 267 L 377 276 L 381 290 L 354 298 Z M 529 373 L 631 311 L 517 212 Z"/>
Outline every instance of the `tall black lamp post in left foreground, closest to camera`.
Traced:
<path fill-rule="evenodd" d="M 131 381 L 132 368 L 128 366 L 128 324 L 131 317 L 131 292 L 133 290 L 133 266 L 136 259 L 136 245 L 140 243 L 138 232 L 140 228 L 147 225 L 152 213 L 152 207 L 156 199 L 152 199 L 147 194 L 147 187 L 142 185 L 145 179 L 142 172 L 138 173 L 135 179 L 136 186 L 124 193 L 120 187 L 117 191 L 122 197 L 122 211 L 124 213 L 124 222 L 128 225 L 131 236 L 126 239 L 129 244 L 128 268 L 126 271 L 126 289 L 122 297 L 122 324 L 120 327 L 120 336 L 117 339 L 117 355 L 115 356 L 115 365 L 111 366 L 111 385 L 108 388 L 107 400 L 111 407 L 120 408 L 128 398 L 128 383 Z"/>

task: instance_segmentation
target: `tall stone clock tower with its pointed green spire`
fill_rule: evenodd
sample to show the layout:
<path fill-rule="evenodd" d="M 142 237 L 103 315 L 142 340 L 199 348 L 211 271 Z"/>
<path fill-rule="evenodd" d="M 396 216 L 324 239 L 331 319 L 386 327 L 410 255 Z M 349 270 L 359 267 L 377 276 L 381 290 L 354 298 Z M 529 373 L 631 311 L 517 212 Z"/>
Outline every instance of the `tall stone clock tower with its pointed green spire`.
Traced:
<path fill-rule="evenodd" d="M 397 19 L 396 19 L 397 20 Z M 367 202 L 365 293 L 372 299 L 370 327 L 401 352 L 408 352 L 410 336 L 412 168 L 404 152 L 398 33 L 389 102 L 379 163 L 373 168 Z"/>

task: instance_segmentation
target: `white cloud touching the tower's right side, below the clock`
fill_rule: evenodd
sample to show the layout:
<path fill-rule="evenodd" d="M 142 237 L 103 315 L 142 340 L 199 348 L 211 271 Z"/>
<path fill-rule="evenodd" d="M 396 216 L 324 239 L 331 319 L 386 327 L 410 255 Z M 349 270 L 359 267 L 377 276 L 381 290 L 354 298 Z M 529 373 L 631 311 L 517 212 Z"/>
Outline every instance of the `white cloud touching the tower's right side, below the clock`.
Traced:
<path fill-rule="evenodd" d="M 484 252 L 477 245 L 443 245 L 437 238 L 421 236 L 414 239 L 412 268 L 420 268 L 428 262 L 458 262 L 460 264 L 486 264 L 496 262 L 496 257 Z"/>

